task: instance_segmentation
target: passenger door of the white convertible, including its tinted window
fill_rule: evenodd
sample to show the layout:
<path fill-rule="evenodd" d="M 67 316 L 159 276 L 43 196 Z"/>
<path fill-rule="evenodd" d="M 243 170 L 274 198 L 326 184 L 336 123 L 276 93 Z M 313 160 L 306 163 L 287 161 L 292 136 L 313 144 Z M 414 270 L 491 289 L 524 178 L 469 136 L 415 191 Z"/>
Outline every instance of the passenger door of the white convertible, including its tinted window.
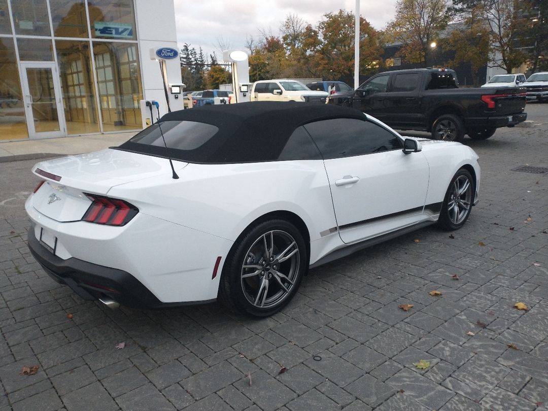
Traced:
<path fill-rule="evenodd" d="M 420 220 L 429 183 L 423 153 L 404 154 L 401 138 L 368 119 L 329 119 L 305 128 L 324 158 L 339 235 L 345 243 Z"/>

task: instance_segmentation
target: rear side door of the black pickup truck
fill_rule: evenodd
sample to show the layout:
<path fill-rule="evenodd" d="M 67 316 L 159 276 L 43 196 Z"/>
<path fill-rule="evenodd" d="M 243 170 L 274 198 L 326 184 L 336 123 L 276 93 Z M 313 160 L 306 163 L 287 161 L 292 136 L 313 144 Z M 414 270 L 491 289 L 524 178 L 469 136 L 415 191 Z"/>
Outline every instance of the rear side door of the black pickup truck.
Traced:
<path fill-rule="evenodd" d="M 386 93 L 387 117 L 390 127 L 423 124 L 423 110 L 419 99 L 420 72 L 395 73 Z"/>

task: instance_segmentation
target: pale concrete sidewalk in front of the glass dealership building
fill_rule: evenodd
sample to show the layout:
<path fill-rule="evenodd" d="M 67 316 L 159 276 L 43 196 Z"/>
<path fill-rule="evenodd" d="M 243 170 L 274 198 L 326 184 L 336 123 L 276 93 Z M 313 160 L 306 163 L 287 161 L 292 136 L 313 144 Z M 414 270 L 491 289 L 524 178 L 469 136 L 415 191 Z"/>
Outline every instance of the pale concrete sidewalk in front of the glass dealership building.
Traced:
<path fill-rule="evenodd" d="M 0 141 L 0 163 L 66 156 L 106 149 L 129 140 L 136 132 L 90 134 L 56 139 Z"/>

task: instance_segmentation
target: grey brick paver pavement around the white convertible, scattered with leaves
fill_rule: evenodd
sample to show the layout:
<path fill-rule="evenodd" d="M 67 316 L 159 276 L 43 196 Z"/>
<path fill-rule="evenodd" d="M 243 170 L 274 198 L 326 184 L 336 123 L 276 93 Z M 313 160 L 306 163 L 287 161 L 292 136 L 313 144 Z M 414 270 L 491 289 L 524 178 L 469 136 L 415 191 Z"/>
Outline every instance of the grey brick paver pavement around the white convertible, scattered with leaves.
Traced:
<path fill-rule="evenodd" d="M 82 301 L 33 260 L 24 210 L 0 217 L 0 410 L 548 409 L 548 176 L 511 171 L 548 167 L 548 105 L 530 107 L 534 127 L 466 140 L 481 202 L 454 238 L 431 227 L 311 270 L 262 320 Z"/>

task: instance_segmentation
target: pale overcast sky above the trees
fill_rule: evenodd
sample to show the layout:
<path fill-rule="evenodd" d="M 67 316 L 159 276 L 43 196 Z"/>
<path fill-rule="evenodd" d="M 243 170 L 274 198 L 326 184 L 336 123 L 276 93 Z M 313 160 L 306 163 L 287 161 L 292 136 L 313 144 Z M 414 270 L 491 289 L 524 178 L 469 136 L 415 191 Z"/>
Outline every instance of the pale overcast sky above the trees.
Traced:
<path fill-rule="evenodd" d="M 395 4 L 396 0 L 362 0 L 359 14 L 381 29 L 393 18 Z M 355 7 L 355 0 L 175 0 L 177 42 L 196 50 L 201 46 L 206 55 L 215 51 L 220 60 L 219 39 L 232 49 L 243 49 L 246 37 L 259 37 L 259 30 L 278 36 L 289 14 L 316 26 L 326 13 L 353 13 Z"/>

